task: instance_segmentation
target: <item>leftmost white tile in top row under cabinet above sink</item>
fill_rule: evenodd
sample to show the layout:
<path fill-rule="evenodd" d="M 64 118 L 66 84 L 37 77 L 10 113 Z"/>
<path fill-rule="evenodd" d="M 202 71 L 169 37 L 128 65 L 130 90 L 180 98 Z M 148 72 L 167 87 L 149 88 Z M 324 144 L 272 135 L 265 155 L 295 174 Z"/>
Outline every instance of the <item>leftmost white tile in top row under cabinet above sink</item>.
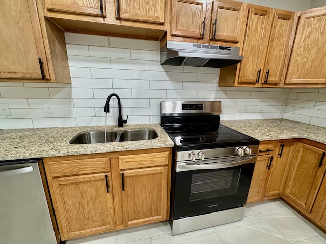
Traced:
<path fill-rule="evenodd" d="M 108 47 L 108 37 L 65 32 L 66 44 Z"/>

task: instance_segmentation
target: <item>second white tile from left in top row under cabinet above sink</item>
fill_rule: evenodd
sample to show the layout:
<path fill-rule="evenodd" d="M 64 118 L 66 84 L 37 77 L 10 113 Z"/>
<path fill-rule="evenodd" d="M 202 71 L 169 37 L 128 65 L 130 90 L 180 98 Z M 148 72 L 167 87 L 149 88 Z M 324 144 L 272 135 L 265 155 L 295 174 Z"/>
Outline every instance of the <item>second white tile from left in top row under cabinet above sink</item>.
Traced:
<path fill-rule="evenodd" d="M 148 50 L 149 42 L 141 39 L 109 37 L 110 47 Z"/>

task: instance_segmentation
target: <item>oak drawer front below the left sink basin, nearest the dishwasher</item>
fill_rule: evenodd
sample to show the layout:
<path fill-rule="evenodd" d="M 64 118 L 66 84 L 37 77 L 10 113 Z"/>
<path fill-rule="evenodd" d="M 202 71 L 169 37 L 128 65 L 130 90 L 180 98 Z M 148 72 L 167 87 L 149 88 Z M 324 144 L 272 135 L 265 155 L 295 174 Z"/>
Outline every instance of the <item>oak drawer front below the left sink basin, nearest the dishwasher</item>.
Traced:
<path fill-rule="evenodd" d="M 52 177 L 110 171 L 110 158 L 68 156 L 44 158 Z"/>

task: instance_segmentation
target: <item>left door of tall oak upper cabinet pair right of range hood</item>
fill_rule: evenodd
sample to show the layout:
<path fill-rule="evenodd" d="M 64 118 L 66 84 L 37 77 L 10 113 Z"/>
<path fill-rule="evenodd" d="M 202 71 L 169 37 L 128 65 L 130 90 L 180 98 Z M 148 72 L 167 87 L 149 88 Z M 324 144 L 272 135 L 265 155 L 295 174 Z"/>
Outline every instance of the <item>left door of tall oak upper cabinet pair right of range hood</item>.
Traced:
<path fill-rule="evenodd" d="M 240 64 L 239 84 L 252 84 L 262 79 L 266 49 L 270 34 L 271 9 L 262 6 L 249 8 L 246 35 L 243 43 L 243 61 Z"/>

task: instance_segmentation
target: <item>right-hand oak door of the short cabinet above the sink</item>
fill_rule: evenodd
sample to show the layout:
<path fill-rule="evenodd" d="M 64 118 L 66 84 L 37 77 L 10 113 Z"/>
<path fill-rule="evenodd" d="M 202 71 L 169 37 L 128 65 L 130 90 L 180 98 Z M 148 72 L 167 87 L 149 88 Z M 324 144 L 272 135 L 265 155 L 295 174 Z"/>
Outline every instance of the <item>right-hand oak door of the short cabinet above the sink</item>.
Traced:
<path fill-rule="evenodd" d="M 164 24 L 164 0 L 117 0 L 117 18 Z"/>

